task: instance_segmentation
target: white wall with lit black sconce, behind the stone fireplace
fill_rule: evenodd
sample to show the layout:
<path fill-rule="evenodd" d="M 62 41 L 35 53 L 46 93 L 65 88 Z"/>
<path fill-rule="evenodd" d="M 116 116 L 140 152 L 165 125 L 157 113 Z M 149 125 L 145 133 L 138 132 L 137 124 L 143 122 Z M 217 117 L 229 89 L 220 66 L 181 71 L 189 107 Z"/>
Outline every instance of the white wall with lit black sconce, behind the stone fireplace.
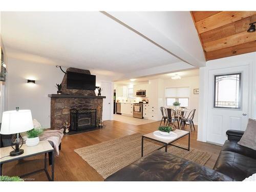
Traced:
<path fill-rule="evenodd" d="M 14 58 L 8 58 L 8 63 L 8 110 L 14 110 L 16 106 L 20 109 L 30 109 L 33 118 L 43 127 L 50 127 L 48 94 L 56 93 L 54 86 L 61 83 L 63 72 L 55 66 Z M 103 78 L 94 75 L 97 86 L 100 86 Z M 34 79 L 36 83 L 29 84 L 27 79 Z"/>

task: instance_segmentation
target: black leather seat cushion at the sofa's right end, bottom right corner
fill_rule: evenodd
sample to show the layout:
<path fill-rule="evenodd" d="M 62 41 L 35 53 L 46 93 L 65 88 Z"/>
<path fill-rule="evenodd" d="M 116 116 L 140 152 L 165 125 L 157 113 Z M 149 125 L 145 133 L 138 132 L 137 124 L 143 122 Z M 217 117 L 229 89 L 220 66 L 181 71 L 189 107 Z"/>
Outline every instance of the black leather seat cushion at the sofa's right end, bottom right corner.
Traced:
<path fill-rule="evenodd" d="M 229 176 L 233 181 L 243 181 L 256 173 L 256 159 L 230 151 L 221 151 L 214 169 Z"/>

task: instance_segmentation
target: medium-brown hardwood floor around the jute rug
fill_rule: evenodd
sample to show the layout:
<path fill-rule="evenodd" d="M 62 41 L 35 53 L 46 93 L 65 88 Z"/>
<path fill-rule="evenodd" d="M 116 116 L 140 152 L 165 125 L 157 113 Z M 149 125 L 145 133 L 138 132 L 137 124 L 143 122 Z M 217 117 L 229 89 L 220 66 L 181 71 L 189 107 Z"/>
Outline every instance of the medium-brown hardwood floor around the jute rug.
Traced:
<path fill-rule="evenodd" d="M 62 139 L 59 157 L 55 157 L 55 181 L 103 181 L 103 178 L 86 161 L 78 156 L 74 149 L 93 145 L 103 141 L 120 138 L 134 133 L 150 133 L 159 126 L 158 122 L 142 125 L 132 125 L 119 121 L 104 121 L 105 127 L 101 130 L 66 135 Z M 186 126 L 188 130 L 189 126 Z M 197 127 L 196 127 L 197 129 Z M 187 138 L 178 141 L 187 144 Z M 221 147 L 197 141 L 197 131 L 190 135 L 190 147 L 211 153 L 212 156 L 205 166 L 212 168 L 218 158 Z M 43 156 L 27 158 L 26 160 L 6 163 L 3 165 L 3 175 L 18 176 L 44 167 Z M 48 167 L 50 171 L 50 167 Z M 29 176 L 27 180 L 47 181 L 44 172 Z"/>

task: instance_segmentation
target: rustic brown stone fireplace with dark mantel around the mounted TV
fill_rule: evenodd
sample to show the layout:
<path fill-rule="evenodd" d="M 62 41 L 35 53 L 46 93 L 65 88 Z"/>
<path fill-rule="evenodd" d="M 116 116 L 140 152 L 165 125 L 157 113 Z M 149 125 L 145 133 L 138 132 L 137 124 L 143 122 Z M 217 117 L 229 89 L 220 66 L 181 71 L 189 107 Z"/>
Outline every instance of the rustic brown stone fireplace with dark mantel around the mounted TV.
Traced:
<path fill-rule="evenodd" d="M 76 68 L 68 68 L 67 71 L 91 74 L 88 70 Z M 48 95 L 51 98 L 51 129 L 65 128 L 63 124 L 66 121 L 70 124 L 73 123 L 70 126 L 70 131 L 95 129 L 97 121 L 102 120 L 102 104 L 105 96 L 96 96 L 95 92 L 91 90 L 67 89 L 66 74 L 61 85 L 62 94 Z M 73 118 L 79 117 L 83 118 L 80 118 L 80 121 L 74 124 Z M 71 127 L 73 130 L 71 130 Z"/>

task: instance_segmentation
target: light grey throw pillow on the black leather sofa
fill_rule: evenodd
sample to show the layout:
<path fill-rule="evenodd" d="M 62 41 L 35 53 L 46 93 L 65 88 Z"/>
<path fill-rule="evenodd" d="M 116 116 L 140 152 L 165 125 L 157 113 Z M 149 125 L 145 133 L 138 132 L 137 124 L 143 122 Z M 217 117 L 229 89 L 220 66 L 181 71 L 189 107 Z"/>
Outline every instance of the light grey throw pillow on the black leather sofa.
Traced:
<path fill-rule="evenodd" d="M 248 119 L 246 130 L 238 144 L 256 150 L 256 120 Z"/>

